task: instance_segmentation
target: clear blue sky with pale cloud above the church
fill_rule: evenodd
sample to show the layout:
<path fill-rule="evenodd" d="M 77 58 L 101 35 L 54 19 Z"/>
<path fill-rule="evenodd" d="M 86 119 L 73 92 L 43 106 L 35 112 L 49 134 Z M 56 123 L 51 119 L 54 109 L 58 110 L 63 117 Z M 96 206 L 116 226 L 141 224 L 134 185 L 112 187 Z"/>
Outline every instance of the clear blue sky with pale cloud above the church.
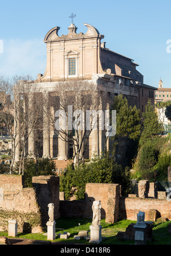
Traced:
<path fill-rule="evenodd" d="M 6 0 L 0 8 L 0 75 L 44 74 L 44 36 L 55 26 L 68 34 L 74 13 L 78 33 L 87 31 L 83 23 L 95 26 L 107 48 L 140 65 L 144 83 L 158 87 L 161 78 L 171 88 L 170 0 Z"/>

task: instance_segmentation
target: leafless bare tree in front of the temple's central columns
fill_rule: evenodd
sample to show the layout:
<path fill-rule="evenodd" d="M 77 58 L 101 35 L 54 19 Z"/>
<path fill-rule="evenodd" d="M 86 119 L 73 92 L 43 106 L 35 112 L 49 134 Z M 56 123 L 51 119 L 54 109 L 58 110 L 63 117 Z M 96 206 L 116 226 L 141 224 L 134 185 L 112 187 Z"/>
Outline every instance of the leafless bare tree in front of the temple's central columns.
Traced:
<path fill-rule="evenodd" d="M 79 165 L 89 135 L 97 124 L 96 113 L 100 105 L 106 102 L 106 94 L 97 90 L 95 84 L 83 80 L 58 83 L 54 91 L 60 101 L 59 111 L 55 112 L 55 116 L 59 117 L 55 121 L 55 128 L 60 139 L 72 145 L 74 163 Z"/>

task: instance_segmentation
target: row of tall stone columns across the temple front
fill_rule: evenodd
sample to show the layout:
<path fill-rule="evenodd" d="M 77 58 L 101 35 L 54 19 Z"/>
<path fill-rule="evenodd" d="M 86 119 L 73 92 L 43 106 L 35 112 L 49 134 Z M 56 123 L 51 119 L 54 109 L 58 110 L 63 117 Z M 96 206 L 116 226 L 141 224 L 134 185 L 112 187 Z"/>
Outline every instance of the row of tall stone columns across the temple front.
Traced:
<path fill-rule="evenodd" d="M 30 104 L 32 104 L 32 96 L 30 95 L 28 97 L 28 107 Z M 17 96 L 18 99 L 15 100 L 15 108 L 19 108 L 19 96 Z M 50 151 L 50 137 L 51 137 L 51 124 L 50 124 L 50 108 L 48 104 L 49 98 L 48 93 L 43 94 L 43 157 L 50 157 L 51 151 Z M 26 109 L 27 111 L 27 109 Z M 15 113 L 17 115 L 17 113 Z M 28 121 L 28 154 L 31 157 L 36 157 L 35 154 L 35 132 L 32 128 L 32 124 L 34 122 L 34 116 L 30 115 L 30 119 Z M 16 140 L 15 140 L 15 160 L 19 160 L 19 140 L 21 139 L 20 134 L 20 120 L 19 118 L 14 118 L 14 132 L 16 133 Z M 82 136 L 82 131 L 80 131 L 79 136 Z M 66 160 L 67 159 L 67 141 L 66 141 L 66 135 L 63 133 L 58 135 L 58 159 L 59 160 Z M 108 147 L 107 147 L 108 148 Z M 91 157 L 93 155 L 99 156 L 101 152 L 104 150 L 104 133 L 100 129 L 92 130 L 91 132 Z M 82 147 L 83 151 L 83 147 Z"/>

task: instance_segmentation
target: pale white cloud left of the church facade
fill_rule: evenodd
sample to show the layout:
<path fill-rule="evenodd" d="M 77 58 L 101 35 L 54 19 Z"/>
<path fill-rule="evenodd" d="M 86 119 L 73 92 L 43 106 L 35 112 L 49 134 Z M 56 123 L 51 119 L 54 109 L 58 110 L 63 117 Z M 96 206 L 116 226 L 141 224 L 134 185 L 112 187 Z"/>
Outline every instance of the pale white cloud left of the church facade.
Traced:
<path fill-rule="evenodd" d="M 46 68 L 46 44 L 43 40 L 3 40 L 3 53 L 0 53 L 0 75 L 44 74 Z"/>

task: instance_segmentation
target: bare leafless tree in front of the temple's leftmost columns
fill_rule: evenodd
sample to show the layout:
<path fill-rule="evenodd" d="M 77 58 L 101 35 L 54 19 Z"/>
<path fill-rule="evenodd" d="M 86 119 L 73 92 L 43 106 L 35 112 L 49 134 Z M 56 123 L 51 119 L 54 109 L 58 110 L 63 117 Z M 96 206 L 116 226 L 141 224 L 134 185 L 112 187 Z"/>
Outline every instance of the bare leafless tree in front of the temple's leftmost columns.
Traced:
<path fill-rule="evenodd" d="M 36 124 L 42 117 L 42 94 L 30 77 L 27 77 L 27 80 L 16 79 L 14 103 L 15 147 L 19 147 L 19 174 L 23 174 L 25 156 L 35 157 L 35 137 L 38 129 Z M 28 152 L 26 152 L 27 142 L 31 146 Z"/>

